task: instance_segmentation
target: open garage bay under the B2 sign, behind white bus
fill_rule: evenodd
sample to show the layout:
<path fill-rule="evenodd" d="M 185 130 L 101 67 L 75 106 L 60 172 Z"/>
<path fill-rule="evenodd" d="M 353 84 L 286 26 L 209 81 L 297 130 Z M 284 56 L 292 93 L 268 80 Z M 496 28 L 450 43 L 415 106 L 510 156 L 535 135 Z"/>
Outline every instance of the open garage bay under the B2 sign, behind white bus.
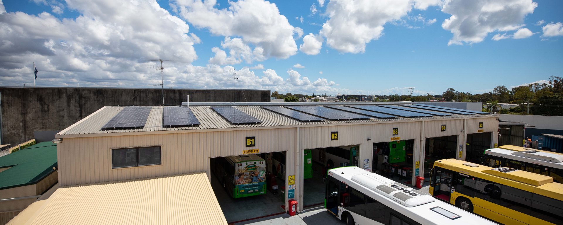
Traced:
<path fill-rule="evenodd" d="M 327 170 L 358 165 L 359 145 L 303 150 L 303 206 L 324 203 Z"/>

